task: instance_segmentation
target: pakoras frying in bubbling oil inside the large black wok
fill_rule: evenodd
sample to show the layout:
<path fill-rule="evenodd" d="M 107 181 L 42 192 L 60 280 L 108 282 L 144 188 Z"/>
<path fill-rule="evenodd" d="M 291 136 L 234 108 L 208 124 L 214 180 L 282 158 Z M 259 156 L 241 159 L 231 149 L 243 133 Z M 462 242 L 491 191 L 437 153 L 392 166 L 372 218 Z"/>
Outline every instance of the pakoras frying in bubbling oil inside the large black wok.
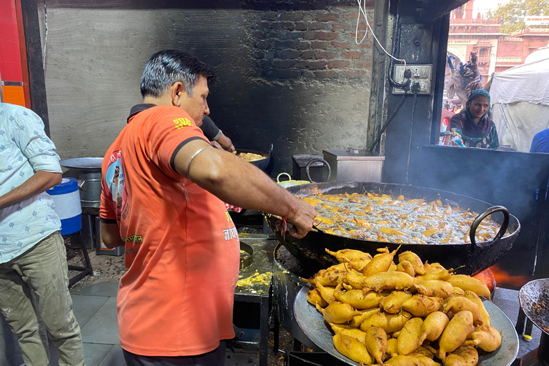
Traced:
<path fill-rule="evenodd" d="M 402 194 L 314 194 L 302 199 L 315 206 L 315 225 L 323 232 L 375 242 L 413 244 L 470 243 L 469 232 L 477 214 L 440 199 L 407 199 Z M 500 225 L 480 222 L 475 238 L 486 242 Z"/>

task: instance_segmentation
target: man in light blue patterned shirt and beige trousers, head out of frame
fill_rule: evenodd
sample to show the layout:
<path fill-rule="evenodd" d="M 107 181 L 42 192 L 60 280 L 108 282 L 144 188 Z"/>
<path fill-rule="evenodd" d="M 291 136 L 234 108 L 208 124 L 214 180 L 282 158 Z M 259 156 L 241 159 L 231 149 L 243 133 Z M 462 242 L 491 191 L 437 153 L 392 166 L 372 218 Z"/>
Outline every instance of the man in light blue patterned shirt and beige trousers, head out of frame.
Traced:
<path fill-rule="evenodd" d="M 17 335 L 27 366 L 49 365 L 39 318 L 59 365 L 84 365 L 61 221 L 45 192 L 61 183 L 54 143 L 30 109 L 0 103 L 0 151 L 0 312 Z"/>

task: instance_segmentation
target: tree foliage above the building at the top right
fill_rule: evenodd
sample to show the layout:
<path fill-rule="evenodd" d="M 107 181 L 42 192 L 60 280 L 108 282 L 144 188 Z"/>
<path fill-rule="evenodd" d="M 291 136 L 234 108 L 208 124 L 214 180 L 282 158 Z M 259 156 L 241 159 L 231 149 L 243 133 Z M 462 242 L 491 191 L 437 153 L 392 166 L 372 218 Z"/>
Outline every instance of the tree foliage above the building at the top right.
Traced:
<path fill-rule="evenodd" d="M 524 16 L 549 16 L 549 0 L 510 0 L 487 15 L 489 19 L 500 17 L 502 33 L 519 31 L 525 29 Z"/>

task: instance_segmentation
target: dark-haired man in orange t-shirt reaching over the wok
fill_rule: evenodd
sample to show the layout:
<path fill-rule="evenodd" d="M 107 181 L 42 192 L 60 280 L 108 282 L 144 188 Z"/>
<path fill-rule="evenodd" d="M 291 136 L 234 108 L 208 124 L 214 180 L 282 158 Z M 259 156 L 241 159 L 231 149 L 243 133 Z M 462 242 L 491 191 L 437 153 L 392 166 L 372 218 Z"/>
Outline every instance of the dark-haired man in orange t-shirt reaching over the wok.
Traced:
<path fill-rule="evenodd" d="M 117 308 L 128 366 L 224 365 L 239 240 L 223 202 L 285 216 L 295 237 L 315 218 L 252 164 L 209 145 L 199 125 L 214 79 L 181 51 L 151 56 L 144 102 L 104 157 L 101 234 L 126 249 Z"/>

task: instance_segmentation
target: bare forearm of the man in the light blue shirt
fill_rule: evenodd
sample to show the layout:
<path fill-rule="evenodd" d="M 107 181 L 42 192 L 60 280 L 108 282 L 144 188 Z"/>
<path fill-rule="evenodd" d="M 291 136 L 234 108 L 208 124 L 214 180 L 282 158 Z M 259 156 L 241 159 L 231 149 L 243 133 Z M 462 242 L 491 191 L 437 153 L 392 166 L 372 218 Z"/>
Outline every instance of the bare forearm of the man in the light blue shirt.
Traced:
<path fill-rule="evenodd" d="M 46 189 L 50 189 L 56 184 L 61 183 L 62 179 L 61 173 L 52 173 L 39 170 L 32 177 L 26 179 L 26 181 L 19 187 L 16 187 L 10 192 L 0 196 L 0 209 L 11 206 L 12 204 L 17 204 L 24 199 L 45 192 Z"/>

